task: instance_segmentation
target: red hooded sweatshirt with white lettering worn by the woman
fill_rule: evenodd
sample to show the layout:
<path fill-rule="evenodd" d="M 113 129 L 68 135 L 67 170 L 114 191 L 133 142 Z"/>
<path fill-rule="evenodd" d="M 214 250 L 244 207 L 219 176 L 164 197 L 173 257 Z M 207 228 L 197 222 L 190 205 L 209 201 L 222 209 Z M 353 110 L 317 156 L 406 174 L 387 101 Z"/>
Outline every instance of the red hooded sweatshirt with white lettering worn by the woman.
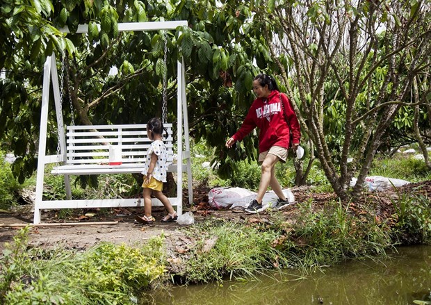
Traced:
<path fill-rule="evenodd" d="M 299 143 L 301 131 L 298 117 L 296 117 L 286 94 L 282 93 L 281 96 L 284 111 L 291 124 L 293 143 Z M 273 146 L 289 147 L 289 127 L 283 115 L 280 94 L 277 90 L 272 90 L 266 99 L 259 97 L 253 101 L 241 129 L 232 138 L 241 141 L 256 127 L 260 129 L 259 152 L 267 151 Z"/>

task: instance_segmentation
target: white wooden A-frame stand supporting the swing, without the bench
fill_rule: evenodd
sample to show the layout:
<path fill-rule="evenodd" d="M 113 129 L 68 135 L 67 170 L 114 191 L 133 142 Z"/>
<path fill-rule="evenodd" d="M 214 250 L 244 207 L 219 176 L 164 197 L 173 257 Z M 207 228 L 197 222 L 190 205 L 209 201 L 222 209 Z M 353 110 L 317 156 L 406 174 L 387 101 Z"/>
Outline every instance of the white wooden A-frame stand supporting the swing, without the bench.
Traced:
<path fill-rule="evenodd" d="M 154 31 L 154 30 L 169 30 L 175 29 L 178 26 L 187 26 L 186 21 L 174 21 L 174 22 L 137 22 L 137 23 L 123 23 L 118 24 L 118 31 Z M 67 32 L 67 31 L 65 31 Z M 81 25 L 76 33 L 88 33 L 88 25 Z M 186 83 L 184 76 L 184 61 L 178 60 L 177 62 L 177 197 L 171 197 L 170 202 L 172 206 L 177 207 L 177 213 L 182 213 L 182 173 L 187 172 L 188 180 L 188 200 L 190 204 L 193 202 L 192 192 L 192 176 L 191 176 L 191 163 L 190 163 L 190 140 L 188 138 L 188 115 L 187 115 L 187 102 L 186 102 Z M 59 134 L 59 146 L 60 151 L 58 155 L 47 156 L 46 145 L 47 145 L 47 129 L 48 129 L 48 111 L 49 111 L 49 90 L 52 82 L 54 91 L 54 102 L 56 105 L 56 117 Z M 183 137 L 184 128 L 184 137 Z M 60 88 L 58 83 L 58 73 L 56 68 L 56 56 L 54 53 L 52 56 L 48 56 L 44 64 L 44 77 L 43 77 L 43 90 L 42 90 L 42 109 L 40 116 L 40 142 L 39 142 L 39 154 L 38 154 L 38 173 L 36 180 L 36 198 L 35 198 L 35 212 L 34 212 L 34 224 L 40 223 L 40 211 L 45 209 L 57 209 L 57 208 L 108 208 L 108 207 L 123 207 L 123 206 L 143 206 L 142 199 L 80 199 L 73 200 L 72 192 L 70 188 L 70 174 L 64 174 L 66 200 L 43 200 L 43 189 L 44 189 L 44 172 L 45 165 L 49 163 L 58 163 L 65 165 L 67 162 L 67 143 L 65 136 L 65 128 L 63 124 L 63 113 L 60 101 Z M 183 150 L 184 142 L 184 150 Z M 187 160 L 186 164 L 183 165 L 183 161 Z M 118 169 L 121 169 L 118 170 Z M 129 172 L 139 172 L 134 167 Z M 123 167 L 108 168 L 100 172 L 85 172 L 81 171 L 80 174 L 101 174 L 101 173 L 118 173 L 128 172 Z M 161 202 L 157 199 L 153 199 L 153 205 L 161 205 Z"/>

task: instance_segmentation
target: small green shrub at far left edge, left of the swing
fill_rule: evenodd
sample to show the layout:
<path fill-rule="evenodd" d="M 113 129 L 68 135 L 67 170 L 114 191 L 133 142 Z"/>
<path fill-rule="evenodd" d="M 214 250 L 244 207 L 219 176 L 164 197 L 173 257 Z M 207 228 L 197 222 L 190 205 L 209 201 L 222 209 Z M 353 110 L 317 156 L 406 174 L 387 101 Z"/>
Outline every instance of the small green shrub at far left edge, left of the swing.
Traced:
<path fill-rule="evenodd" d="M 5 160 L 5 154 L 0 151 L 0 208 L 8 209 L 16 204 L 19 188 L 19 183 Z"/>

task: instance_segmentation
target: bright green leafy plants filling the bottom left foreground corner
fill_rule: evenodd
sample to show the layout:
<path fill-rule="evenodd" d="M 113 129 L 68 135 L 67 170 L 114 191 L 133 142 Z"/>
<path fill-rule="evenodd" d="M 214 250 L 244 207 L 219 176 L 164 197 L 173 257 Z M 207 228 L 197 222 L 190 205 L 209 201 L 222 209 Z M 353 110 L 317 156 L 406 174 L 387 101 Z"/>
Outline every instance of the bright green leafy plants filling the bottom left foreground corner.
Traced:
<path fill-rule="evenodd" d="M 165 272 L 163 236 L 140 248 L 102 243 L 76 253 L 27 249 L 28 231 L 3 251 L 1 304 L 136 304 Z"/>

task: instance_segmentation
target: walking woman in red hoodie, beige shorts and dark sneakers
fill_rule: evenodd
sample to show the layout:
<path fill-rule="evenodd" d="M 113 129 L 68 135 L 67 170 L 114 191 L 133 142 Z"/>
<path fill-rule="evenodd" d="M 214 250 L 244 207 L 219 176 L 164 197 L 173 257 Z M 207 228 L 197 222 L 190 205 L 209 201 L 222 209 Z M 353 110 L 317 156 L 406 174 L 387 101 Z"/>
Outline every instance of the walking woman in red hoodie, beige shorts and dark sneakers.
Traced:
<path fill-rule="evenodd" d="M 300 144 L 301 132 L 298 117 L 296 117 L 291 103 L 286 94 L 279 92 L 277 83 L 273 77 L 259 74 L 253 81 L 253 92 L 256 99 L 253 101 L 244 122 L 234 135 L 226 142 L 230 148 L 234 142 L 241 141 L 245 135 L 254 128 L 260 129 L 259 133 L 259 163 L 261 163 L 261 182 L 256 199 L 252 200 L 245 209 L 247 213 L 259 213 L 263 211 L 262 199 L 268 186 L 279 197 L 275 208 L 279 209 L 288 204 L 275 177 L 275 163 L 279 160 L 286 162 L 289 145 L 296 151 Z M 293 141 L 290 143 L 290 130 Z"/>

